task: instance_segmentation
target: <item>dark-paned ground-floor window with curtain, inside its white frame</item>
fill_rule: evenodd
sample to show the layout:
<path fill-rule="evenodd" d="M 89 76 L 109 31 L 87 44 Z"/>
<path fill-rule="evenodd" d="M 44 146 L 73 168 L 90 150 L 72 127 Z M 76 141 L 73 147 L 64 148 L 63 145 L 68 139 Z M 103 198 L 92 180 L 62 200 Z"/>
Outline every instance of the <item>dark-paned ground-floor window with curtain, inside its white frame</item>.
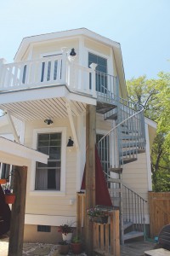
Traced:
<path fill-rule="evenodd" d="M 37 150 L 49 155 L 48 165 L 37 162 L 36 190 L 60 190 L 61 132 L 38 133 Z"/>

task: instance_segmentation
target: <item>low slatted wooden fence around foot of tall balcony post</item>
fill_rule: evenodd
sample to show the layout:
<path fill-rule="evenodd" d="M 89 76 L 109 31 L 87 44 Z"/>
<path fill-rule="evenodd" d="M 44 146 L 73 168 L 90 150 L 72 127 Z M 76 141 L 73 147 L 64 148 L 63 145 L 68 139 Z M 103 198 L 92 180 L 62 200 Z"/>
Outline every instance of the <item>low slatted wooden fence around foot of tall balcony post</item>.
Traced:
<path fill-rule="evenodd" d="M 85 224 L 85 194 L 77 193 L 77 234 L 83 237 Z M 108 211 L 107 224 L 93 223 L 93 251 L 94 255 L 120 256 L 119 210 Z"/>

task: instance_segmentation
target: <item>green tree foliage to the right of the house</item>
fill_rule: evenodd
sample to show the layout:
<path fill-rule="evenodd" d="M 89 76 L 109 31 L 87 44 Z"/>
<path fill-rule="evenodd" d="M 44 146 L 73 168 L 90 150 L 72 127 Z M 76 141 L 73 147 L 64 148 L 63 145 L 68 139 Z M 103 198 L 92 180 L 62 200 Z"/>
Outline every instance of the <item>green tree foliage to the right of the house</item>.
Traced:
<path fill-rule="evenodd" d="M 157 122 L 151 148 L 153 189 L 170 191 L 170 73 L 158 73 L 158 79 L 131 79 L 127 92 L 131 101 L 144 107 L 144 116 Z"/>

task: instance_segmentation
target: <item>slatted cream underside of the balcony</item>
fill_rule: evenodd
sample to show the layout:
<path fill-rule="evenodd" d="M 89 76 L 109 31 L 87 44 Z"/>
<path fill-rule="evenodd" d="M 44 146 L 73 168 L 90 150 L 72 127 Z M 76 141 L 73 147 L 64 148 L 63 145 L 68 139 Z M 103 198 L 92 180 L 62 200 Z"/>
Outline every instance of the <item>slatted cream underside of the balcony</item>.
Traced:
<path fill-rule="evenodd" d="M 41 99 L 27 102 L 0 104 L 0 109 L 8 111 L 14 117 L 26 121 L 35 119 L 53 119 L 68 117 L 65 97 Z M 77 116 L 86 110 L 86 104 L 71 101 L 72 116 Z"/>

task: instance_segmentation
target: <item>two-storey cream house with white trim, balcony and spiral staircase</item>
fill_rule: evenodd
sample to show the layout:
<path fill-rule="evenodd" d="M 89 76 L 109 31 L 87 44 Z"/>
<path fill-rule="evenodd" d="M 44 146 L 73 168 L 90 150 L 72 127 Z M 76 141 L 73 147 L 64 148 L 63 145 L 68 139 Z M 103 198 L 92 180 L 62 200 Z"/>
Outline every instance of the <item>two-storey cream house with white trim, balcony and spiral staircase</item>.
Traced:
<path fill-rule="evenodd" d="M 127 100 L 120 44 L 81 28 L 24 38 L 14 63 L 0 60 L 0 136 L 49 155 L 48 166 L 28 166 L 25 241 L 55 242 L 56 227 L 76 221 L 89 105 L 96 106 L 96 141 L 122 242 L 144 236 L 156 124 Z"/>

